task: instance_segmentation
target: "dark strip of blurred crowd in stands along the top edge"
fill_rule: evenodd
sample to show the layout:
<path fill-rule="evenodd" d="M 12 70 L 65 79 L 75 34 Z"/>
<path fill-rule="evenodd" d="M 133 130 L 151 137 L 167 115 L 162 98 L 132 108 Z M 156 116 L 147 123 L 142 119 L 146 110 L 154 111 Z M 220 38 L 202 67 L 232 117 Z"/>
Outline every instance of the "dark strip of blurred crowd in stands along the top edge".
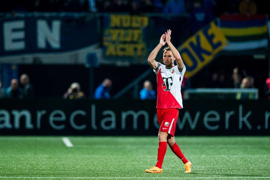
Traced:
<path fill-rule="evenodd" d="M 196 5 L 194 5 L 196 4 Z M 199 5 L 201 4 L 201 5 Z M 258 9 L 258 5 L 262 8 Z M 206 16 L 222 13 L 269 13 L 269 1 L 253 0 L 10 0 L 0 2 L 1 12 L 154 12 L 183 14 L 195 12 Z M 202 10 L 199 10 L 199 7 Z"/>

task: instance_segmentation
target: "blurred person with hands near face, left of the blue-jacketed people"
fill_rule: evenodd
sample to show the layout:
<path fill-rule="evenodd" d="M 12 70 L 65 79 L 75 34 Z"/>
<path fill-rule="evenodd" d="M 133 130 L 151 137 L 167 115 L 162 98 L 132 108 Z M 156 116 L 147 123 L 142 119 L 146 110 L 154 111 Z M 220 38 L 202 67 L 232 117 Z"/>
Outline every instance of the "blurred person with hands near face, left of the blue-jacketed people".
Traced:
<path fill-rule="evenodd" d="M 85 95 L 81 91 L 81 87 L 78 82 L 73 82 L 63 96 L 64 99 L 81 99 L 84 97 Z"/>

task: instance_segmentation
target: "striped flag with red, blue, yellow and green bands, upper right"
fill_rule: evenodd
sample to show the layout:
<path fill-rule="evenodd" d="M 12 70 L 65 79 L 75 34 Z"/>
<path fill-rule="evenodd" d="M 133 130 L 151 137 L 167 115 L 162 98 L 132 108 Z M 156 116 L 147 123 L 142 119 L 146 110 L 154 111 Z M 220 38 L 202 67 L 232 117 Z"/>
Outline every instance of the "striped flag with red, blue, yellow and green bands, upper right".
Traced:
<path fill-rule="evenodd" d="M 217 18 L 217 26 L 228 40 L 225 51 L 258 49 L 268 46 L 266 15 L 223 14 Z"/>

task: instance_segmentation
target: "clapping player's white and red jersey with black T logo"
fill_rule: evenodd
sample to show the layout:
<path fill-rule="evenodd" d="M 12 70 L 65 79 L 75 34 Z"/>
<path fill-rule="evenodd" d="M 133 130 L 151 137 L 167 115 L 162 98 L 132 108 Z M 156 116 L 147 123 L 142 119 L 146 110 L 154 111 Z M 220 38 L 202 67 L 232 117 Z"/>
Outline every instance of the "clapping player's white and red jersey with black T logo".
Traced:
<path fill-rule="evenodd" d="M 157 108 L 183 108 L 181 84 L 186 71 L 185 65 L 180 72 L 177 66 L 167 69 L 164 64 L 157 63 L 158 68 L 154 70 L 157 74 L 158 83 Z"/>

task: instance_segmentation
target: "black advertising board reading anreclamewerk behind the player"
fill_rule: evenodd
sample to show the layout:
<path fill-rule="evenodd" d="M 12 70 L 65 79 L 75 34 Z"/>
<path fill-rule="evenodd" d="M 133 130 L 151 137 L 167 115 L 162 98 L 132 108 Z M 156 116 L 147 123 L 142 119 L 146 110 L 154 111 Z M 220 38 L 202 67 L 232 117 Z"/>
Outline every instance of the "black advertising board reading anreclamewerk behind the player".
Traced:
<path fill-rule="evenodd" d="M 157 135 L 156 101 L 0 100 L 1 135 Z M 270 101 L 184 101 L 176 135 L 270 135 Z"/>

